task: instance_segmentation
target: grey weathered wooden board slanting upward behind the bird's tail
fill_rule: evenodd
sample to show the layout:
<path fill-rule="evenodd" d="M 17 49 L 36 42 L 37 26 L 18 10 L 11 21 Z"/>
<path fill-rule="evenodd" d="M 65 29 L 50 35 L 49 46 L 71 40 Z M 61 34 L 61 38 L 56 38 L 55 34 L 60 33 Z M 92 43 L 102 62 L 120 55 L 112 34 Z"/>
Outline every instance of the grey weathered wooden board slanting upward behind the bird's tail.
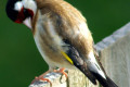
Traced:
<path fill-rule="evenodd" d="M 101 62 L 119 87 L 130 87 L 130 23 L 96 44 Z"/>

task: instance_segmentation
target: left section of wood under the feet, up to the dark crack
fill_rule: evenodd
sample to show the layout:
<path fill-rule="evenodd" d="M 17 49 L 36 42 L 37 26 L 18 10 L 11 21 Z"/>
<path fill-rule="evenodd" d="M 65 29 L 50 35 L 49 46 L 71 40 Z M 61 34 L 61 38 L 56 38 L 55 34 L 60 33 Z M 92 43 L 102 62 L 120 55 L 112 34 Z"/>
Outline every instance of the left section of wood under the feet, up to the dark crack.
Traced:
<path fill-rule="evenodd" d="M 49 73 L 44 76 L 44 78 L 49 78 L 52 83 L 52 87 L 67 87 L 66 77 L 61 73 Z M 29 87 L 51 87 L 50 83 L 36 80 Z"/>

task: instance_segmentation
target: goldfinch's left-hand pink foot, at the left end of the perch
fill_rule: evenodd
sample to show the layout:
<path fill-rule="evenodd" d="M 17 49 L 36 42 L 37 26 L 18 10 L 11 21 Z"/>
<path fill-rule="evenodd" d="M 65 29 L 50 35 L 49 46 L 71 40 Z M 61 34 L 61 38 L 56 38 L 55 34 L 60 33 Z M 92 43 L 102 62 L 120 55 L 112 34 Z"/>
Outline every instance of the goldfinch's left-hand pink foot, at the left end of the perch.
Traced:
<path fill-rule="evenodd" d="M 52 85 L 52 83 L 50 82 L 50 79 L 49 78 L 43 78 L 43 76 L 44 75 L 47 75 L 48 73 L 50 73 L 51 71 L 49 70 L 49 71 L 47 71 L 46 73 L 43 73 L 43 74 L 41 74 L 40 76 L 36 76 L 35 77 L 35 79 L 31 82 L 31 84 L 34 84 L 35 82 L 37 82 L 37 80 L 43 80 L 43 82 L 48 82 L 48 83 L 50 83 L 50 85 Z"/>

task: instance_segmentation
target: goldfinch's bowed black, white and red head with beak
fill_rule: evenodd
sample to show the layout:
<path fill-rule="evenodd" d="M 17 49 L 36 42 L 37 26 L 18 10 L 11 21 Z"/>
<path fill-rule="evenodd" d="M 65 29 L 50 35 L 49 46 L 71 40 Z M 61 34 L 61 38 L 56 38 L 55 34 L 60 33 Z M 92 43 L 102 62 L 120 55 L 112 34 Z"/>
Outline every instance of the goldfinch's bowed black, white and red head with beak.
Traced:
<path fill-rule="evenodd" d="M 9 0 L 5 11 L 13 22 L 23 23 L 31 28 L 31 20 L 36 14 L 37 4 L 34 0 Z"/>

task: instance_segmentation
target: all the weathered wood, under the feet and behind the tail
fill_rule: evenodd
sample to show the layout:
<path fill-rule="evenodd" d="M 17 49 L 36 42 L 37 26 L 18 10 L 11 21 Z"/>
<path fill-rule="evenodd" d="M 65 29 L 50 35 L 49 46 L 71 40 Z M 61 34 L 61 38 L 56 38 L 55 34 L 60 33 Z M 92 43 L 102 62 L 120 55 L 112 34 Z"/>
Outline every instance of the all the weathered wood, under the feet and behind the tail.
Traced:
<path fill-rule="evenodd" d="M 119 86 L 130 87 L 130 23 L 98 42 L 101 62 L 107 75 Z M 68 70 L 68 79 L 60 73 L 49 73 L 44 77 L 52 87 L 99 87 L 78 70 Z M 29 87 L 51 87 L 47 82 L 35 82 Z"/>

